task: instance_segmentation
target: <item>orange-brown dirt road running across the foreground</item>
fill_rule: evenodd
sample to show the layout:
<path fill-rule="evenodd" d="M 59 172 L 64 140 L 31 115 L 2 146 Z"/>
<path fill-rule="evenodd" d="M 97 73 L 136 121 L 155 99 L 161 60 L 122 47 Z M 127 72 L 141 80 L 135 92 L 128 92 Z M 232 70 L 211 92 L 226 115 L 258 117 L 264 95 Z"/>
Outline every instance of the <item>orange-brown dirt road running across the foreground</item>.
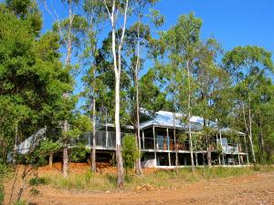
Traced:
<path fill-rule="evenodd" d="M 180 190 L 79 192 L 41 187 L 34 204 L 273 204 L 274 173 L 182 185 Z M 26 197 L 26 196 L 25 196 Z M 26 199 L 26 198 L 25 198 Z"/>

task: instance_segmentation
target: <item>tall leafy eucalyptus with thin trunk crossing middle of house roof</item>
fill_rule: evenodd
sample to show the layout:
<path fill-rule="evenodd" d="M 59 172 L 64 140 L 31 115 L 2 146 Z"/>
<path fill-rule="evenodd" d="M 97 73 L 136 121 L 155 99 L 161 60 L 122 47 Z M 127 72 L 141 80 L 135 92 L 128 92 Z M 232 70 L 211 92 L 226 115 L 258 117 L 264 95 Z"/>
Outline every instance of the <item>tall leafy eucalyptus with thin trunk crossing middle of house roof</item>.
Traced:
<path fill-rule="evenodd" d="M 174 77 L 169 77 L 170 82 L 166 83 L 166 85 L 170 87 L 174 99 L 176 98 L 175 96 L 181 99 L 178 100 L 177 108 L 185 108 L 184 111 L 187 110 L 188 135 L 193 170 L 194 158 L 190 119 L 193 112 L 192 104 L 194 103 L 192 98 L 194 97 L 196 87 L 193 73 L 195 64 L 200 57 L 201 42 L 199 35 L 201 26 L 201 19 L 196 18 L 193 13 L 190 15 L 180 15 L 177 24 L 172 26 L 167 32 L 162 33 L 160 40 L 162 42 L 160 45 L 163 45 L 164 56 L 168 58 L 167 67 L 164 69 L 169 74 L 175 75 Z M 180 89 L 175 85 L 177 83 L 180 84 Z M 187 96 L 186 102 L 185 96 Z M 175 110 L 174 105 L 173 109 Z"/>

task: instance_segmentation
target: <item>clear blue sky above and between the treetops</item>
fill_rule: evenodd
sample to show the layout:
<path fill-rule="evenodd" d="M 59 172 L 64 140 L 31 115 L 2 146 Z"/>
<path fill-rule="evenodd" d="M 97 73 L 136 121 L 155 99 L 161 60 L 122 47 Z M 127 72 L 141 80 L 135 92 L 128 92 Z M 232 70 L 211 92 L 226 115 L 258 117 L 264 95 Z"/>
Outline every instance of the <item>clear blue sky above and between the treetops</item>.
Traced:
<path fill-rule="evenodd" d="M 49 3 L 52 0 L 47 0 Z M 38 0 L 41 3 L 41 0 Z M 54 0 L 60 17 L 66 15 L 66 8 Z M 43 32 L 51 29 L 52 18 L 40 8 L 44 15 Z M 235 46 L 263 46 L 274 54 L 274 1 L 273 0 L 162 0 L 156 9 L 165 15 L 162 30 L 173 26 L 179 15 L 195 12 L 202 18 L 201 37 L 215 36 L 225 51 Z M 130 23 L 130 22 L 129 22 Z M 273 60 L 274 57 L 272 56 Z M 148 64 L 149 66 L 149 64 Z M 142 73 L 145 73 L 145 70 Z M 77 78 L 81 89 L 80 76 Z"/>

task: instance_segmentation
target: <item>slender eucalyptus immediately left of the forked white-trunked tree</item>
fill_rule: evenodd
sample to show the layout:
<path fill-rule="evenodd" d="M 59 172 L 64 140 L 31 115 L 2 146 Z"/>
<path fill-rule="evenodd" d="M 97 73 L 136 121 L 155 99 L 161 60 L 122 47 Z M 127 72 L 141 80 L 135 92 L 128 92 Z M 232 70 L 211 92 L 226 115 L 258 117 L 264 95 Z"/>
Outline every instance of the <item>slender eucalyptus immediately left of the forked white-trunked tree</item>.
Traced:
<path fill-rule="evenodd" d="M 92 141 L 92 147 L 90 149 L 90 169 L 91 171 L 96 172 L 96 101 L 98 92 L 102 89 L 102 87 L 100 87 L 100 82 L 98 82 L 98 65 L 96 64 L 96 58 L 99 55 L 98 44 L 100 34 L 103 30 L 107 16 L 102 1 L 85 0 L 83 3 L 87 28 L 84 35 L 84 50 L 81 55 L 81 60 L 83 62 L 82 66 L 88 67 L 88 69 L 85 70 L 85 76 L 82 79 L 85 85 L 83 96 L 87 100 L 87 106 L 89 107 L 88 112 L 90 113 L 92 125 L 92 136 L 90 136 L 90 142 Z"/>

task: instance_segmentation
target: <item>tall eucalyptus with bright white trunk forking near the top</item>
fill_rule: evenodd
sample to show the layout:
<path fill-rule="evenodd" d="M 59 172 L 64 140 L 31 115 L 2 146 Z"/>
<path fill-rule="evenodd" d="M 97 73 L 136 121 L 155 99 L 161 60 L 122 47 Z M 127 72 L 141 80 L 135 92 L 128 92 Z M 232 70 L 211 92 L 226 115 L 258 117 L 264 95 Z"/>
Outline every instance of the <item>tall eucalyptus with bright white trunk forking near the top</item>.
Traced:
<path fill-rule="evenodd" d="M 111 51 L 113 59 L 113 70 L 115 76 L 115 129 L 116 129 L 116 159 L 118 171 L 118 186 L 123 188 L 123 167 L 121 157 L 121 127 L 120 127 L 120 83 L 122 70 L 122 50 L 125 43 L 125 32 L 127 21 L 134 12 L 141 16 L 144 5 L 152 4 L 155 0 L 104 0 L 105 9 L 111 23 Z M 137 9 L 138 8 L 138 9 Z M 121 27 L 119 27 L 121 25 Z M 119 31 L 119 32 L 117 32 Z M 138 43 L 136 42 L 136 45 Z M 138 69 L 138 64 L 135 65 Z"/>

